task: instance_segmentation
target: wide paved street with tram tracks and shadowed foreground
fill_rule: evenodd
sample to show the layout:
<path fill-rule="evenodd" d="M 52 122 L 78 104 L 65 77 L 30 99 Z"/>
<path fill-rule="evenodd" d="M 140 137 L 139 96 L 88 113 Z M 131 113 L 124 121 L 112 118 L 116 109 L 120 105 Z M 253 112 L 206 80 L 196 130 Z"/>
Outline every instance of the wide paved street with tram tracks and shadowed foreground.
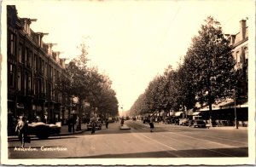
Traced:
<path fill-rule="evenodd" d="M 26 150 L 20 142 L 9 141 L 9 158 L 208 158 L 247 157 L 247 129 L 210 128 L 157 124 L 153 133 L 142 121 L 125 121 L 131 130 L 120 130 L 119 123 L 108 129 L 81 134 L 32 138 Z"/>

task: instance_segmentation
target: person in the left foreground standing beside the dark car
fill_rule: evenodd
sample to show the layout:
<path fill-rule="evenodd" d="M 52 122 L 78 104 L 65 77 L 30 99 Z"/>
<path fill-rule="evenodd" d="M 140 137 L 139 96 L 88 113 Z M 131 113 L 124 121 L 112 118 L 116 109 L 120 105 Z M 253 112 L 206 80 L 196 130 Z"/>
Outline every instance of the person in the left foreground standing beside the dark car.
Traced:
<path fill-rule="evenodd" d="M 28 129 L 28 124 L 26 123 L 26 118 L 21 117 L 20 121 L 16 125 L 16 129 L 15 129 L 15 131 L 19 135 L 21 148 L 25 147 L 25 142 L 30 142 L 30 138 L 29 138 L 29 136 L 27 136 L 27 129 Z"/>

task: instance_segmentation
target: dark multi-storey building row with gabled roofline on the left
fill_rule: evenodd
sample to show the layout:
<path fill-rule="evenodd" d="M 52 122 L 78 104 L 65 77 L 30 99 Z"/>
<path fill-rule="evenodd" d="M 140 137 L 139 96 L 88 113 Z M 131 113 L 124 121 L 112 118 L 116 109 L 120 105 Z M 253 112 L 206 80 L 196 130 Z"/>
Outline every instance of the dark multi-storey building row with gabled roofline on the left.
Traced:
<path fill-rule="evenodd" d="M 55 123 L 72 109 L 72 98 L 55 89 L 59 78 L 69 78 L 65 60 L 44 43 L 43 32 L 33 32 L 36 19 L 19 18 L 15 6 L 7 6 L 8 113 L 12 118 L 26 116 Z M 11 124 L 9 117 L 9 124 Z"/>

